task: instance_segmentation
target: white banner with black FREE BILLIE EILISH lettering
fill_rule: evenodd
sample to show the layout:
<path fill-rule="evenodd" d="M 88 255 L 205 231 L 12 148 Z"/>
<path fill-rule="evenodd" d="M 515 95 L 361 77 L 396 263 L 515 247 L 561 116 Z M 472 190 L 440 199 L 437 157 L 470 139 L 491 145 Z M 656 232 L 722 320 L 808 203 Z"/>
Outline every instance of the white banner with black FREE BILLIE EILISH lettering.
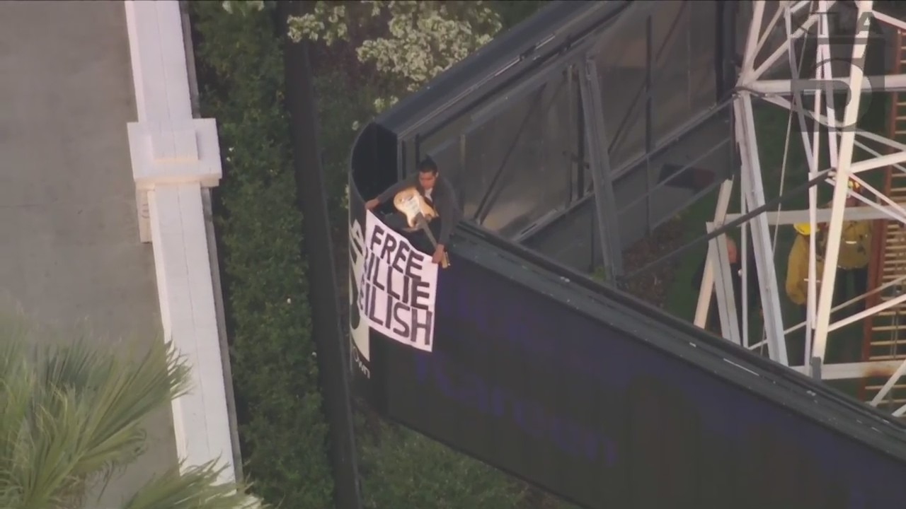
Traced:
<path fill-rule="evenodd" d="M 419 350 L 431 351 L 438 265 L 371 211 L 366 215 L 364 264 L 356 274 L 361 274 L 359 312 L 368 318 L 371 329 Z"/>

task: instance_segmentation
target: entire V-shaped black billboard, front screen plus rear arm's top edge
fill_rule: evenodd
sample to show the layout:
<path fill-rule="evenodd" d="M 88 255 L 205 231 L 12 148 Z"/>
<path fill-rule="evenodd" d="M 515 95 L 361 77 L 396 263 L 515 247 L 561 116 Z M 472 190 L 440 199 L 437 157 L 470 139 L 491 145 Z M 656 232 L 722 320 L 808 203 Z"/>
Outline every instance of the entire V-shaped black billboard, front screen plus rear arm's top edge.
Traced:
<path fill-rule="evenodd" d="M 367 273 L 362 196 L 413 171 L 430 153 L 419 152 L 424 139 L 458 129 L 627 5 L 552 2 L 360 133 L 350 180 L 356 389 L 385 417 L 588 508 L 900 507 L 899 423 L 472 228 L 458 230 L 451 266 L 437 274 L 430 351 L 373 330 L 354 305 Z M 448 174 L 462 158 L 451 147 Z"/>

